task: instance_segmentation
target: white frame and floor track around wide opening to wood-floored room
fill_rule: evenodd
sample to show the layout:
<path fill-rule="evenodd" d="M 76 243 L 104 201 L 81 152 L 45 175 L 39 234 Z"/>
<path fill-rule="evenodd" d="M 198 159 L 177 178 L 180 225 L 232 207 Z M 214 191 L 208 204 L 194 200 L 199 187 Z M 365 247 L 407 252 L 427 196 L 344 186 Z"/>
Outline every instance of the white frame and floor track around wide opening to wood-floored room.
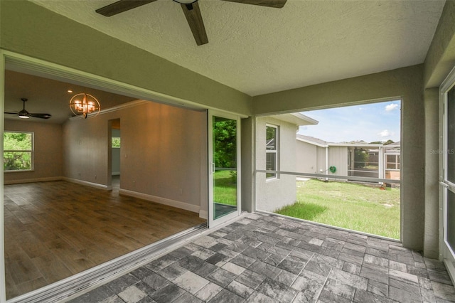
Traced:
<path fill-rule="evenodd" d="M 56 63 L 50 63 L 45 60 L 29 57 L 27 55 L 21 55 L 14 53 L 9 50 L 3 50 L 0 48 L 0 73 L 4 75 L 6 67 L 14 67 L 15 71 L 20 73 L 31 73 L 33 75 L 44 76 L 53 80 L 63 80 L 71 83 L 90 83 L 92 87 L 105 90 L 107 92 L 113 92 L 117 94 L 127 95 L 129 97 L 137 97 L 141 100 L 154 100 L 154 102 L 164 103 L 167 105 L 183 107 L 188 110 L 203 111 L 207 110 L 207 105 L 198 104 L 189 100 L 183 100 L 179 97 L 173 97 L 165 95 L 161 92 L 154 92 L 152 90 L 144 89 L 127 83 L 121 83 L 117 80 L 108 79 L 102 76 L 93 75 L 91 73 L 75 70 L 74 68 L 68 68 L 63 65 Z M 0 114 L 0 131 L 4 132 L 4 77 L 0 77 L 0 108 L 3 109 Z M 223 114 L 224 115 L 224 114 Z M 232 114 L 235 117 L 247 117 L 242 114 Z M 240 124 L 238 135 L 240 136 Z M 205 134 L 203 134 L 205 135 Z M 0 139 L 0 151 L 3 153 L 3 137 Z M 239 141 L 240 142 L 240 141 Z M 237 151 L 240 151 L 240 146 Z M 240 165 L 240 162 L 237 164 Z M 202 168 L 201 168 L 202 170 Z M 205 174 L 205 168 L 204 174 Z M 5 255 L 4 255 L 4 174 L 3 167 L 0 169 L 0 303 L 6 302 L 6 279 L 5 279 Z M 240 175 L 240 169 L 239 169 Z M 205 184 L 201 184 L 201 191 L 207 192 Z M 240 193 L 240 189 L 239 189 Z M 237 194 L 239 194 L 237 193 Z M 204 201 L 205 203 L 205 201 Z M 240 209 L 240 206 L 239 206 Z M 73 275 L 64 280 L 60 280 L 51 285 L 41 287 L 40 289 L 33 290 L 26 294 L 21 294 L 18 297 L 9 299 L 8 302 L 21 302 L 21 301 L 43 301 L 46 298 L 52 299 L 63 299 L 73 296 L 80 292 L 81 288 L 99 286 L 101 281 L 107 279 L 114 279 L 119 275 L 124 274 L 133 266 L 139 264 L 145 264 L 149 256 L 158 256 L 162 254 L 168 247 L 175 247 L 179 241 L 186 240 L 188 238 L 200 235 L 201 230 L 205 230 L 205 226 L 196 226 L 189 232 L 183 231 L 175 235 L 171 242 L 160 243 L 156 247 L 145 247 L 137 251 L 136 254 L 128 254 L 119 257 L 115 260 L 111 260 L 102 265 L 92 267 L 90 270 L 81 272 L 77 275 Z M 142 262 L 142 263 L 141 263 Z"/>

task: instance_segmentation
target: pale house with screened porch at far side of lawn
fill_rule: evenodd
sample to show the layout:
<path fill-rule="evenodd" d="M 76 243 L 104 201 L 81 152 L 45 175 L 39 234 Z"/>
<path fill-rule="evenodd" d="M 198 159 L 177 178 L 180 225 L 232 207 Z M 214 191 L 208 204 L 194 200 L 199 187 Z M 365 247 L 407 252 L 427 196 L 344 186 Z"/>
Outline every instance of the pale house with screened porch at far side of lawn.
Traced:
<path fill-rule="evenodd" d="M 400 142 L 393 145 L 333 143 L 301 134 L 296 135 L 296 142 L 296 171 L 333 174 L 333 179 L 335 176 L 400 179 Z"/>

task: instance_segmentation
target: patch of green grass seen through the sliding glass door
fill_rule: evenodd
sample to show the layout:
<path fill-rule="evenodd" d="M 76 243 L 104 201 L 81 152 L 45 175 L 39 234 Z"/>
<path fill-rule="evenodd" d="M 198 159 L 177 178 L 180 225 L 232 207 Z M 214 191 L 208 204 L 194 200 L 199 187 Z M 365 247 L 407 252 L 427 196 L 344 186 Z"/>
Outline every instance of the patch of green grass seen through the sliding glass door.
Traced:
<path fill-rule="evenodd" d="M 237 184 L 231 171 L 215 171 L 213 200 L 217 203 L 237 205 Z"/>

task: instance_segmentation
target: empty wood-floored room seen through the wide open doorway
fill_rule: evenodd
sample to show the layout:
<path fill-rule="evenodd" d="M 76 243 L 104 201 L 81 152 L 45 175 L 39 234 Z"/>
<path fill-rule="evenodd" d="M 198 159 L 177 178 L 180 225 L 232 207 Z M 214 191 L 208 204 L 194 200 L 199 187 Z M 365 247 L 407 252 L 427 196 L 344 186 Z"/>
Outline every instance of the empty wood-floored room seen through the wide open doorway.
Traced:
<path fill-rule="evenodd" d="M 71 112 L 81 92 L 97 96 L 99 115 Z M 205 112 L 13 70 L 5 98 L 5 132 L 33 134 L 31 168 L 4 174 L 7 299 L 206 222 L 191 177 L 200 174 Z M 14 113 L 23 108 L 28 119 Z"/>

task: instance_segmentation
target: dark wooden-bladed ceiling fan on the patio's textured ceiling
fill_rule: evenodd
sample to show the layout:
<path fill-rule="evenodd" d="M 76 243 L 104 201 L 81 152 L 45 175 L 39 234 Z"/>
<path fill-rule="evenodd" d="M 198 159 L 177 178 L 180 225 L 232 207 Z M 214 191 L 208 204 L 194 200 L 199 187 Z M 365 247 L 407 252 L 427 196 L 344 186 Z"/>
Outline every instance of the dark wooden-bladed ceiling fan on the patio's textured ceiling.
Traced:
<path fill-rule="evenodd" d="M 103 16 L 114 16 L 130 9 L 135 9 L 144 4 L 149 4 L 156 0 L 120 0 L 104 6 L 101 9 L 97 9 L 96 12 Z M 205 27 L 200 14 L 198 0 L 173 0 L 179 4 L 183 9 L 183 14 L 186 16 L 186 21 L 191 28 L 196 44 L 201 46 L 208 43 L 207 33 L 205 33 Z M 237 2 L 241 4 L 254 4 L 259 6 L 274 7 L 281 9 L 287 0 L 223 0 L 230 2 Z"/>

